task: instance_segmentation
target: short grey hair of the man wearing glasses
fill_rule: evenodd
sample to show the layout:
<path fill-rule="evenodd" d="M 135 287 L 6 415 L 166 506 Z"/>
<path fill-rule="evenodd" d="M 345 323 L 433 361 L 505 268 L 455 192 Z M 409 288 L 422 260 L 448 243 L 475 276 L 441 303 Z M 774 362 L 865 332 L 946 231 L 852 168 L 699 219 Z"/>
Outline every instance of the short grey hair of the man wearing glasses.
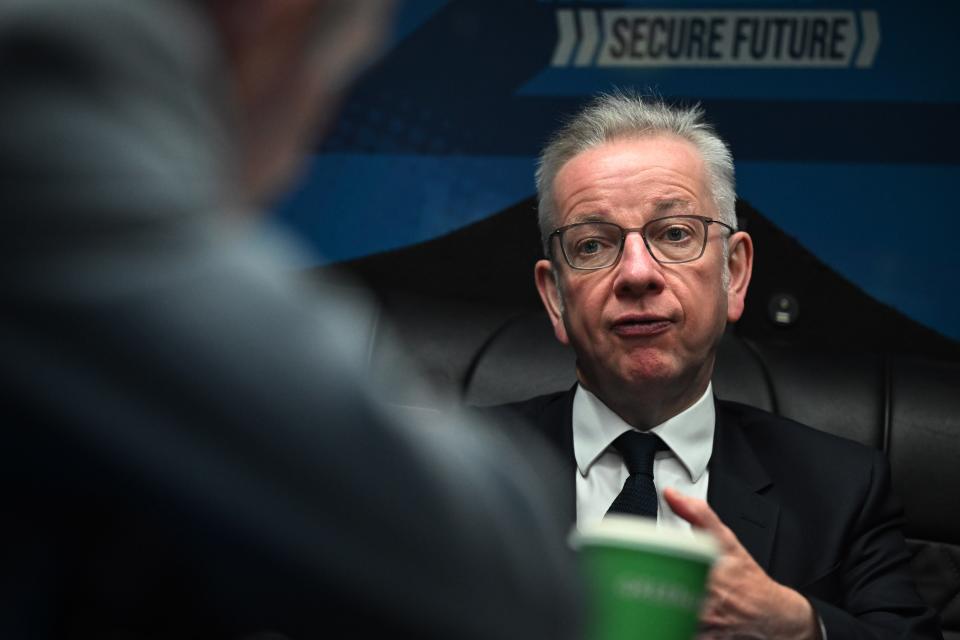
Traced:
<path fill-rule="evenodd" d="M 727 144 L 703 119 L 699 105 L 675 107 L 661 99 L 623 91 L 603 93 L 551 136 L 537 163 L 540 238 L 545 252 L 555 228 L 553 182 L 574 156 L 611 140 L 672 134 L 697 148 L 707 167 L 708 188 L 722 222 L 737 228 L 733 156 Z"/>

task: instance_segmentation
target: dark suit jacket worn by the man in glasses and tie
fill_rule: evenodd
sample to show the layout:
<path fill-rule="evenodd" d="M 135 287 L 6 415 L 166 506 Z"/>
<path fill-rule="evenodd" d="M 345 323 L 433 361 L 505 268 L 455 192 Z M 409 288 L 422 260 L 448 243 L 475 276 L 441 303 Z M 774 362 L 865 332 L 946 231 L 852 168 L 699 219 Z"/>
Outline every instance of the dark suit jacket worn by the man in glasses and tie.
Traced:
<path fill-rule="evenodd" d="M 575 519 L 576 387 L 497 412 L 519 415 L 569 465 Z M 876 450 L 746 405 L 716 401 L 707 501 L 771 578 L 808 597 L 829 640 L 941 638 L 916 593 L 902 513 Z"/>

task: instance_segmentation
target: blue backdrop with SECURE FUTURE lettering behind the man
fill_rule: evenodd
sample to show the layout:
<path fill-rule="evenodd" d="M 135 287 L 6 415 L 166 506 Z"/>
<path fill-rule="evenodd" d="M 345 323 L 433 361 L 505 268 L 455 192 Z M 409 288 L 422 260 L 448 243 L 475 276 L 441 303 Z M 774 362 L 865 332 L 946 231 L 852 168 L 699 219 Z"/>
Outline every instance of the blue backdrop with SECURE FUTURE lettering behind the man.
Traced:
<path fill-rule="evenodd" d="M 562 117 L 633 87 L 701 102 L 740 197 L 869 295 L 960 339 L 960 3 L 408 0 L 397 17 L 278 205 L 322 260 L 529 197 Z"/>

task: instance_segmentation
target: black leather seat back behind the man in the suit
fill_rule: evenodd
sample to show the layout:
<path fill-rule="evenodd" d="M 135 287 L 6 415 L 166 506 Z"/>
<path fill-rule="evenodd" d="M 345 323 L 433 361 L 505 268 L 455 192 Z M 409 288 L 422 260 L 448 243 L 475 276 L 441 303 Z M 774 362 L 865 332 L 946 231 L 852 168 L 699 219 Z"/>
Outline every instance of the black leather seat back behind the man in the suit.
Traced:
<path fill-rule="evenodd" d="M 383 339 L 393 334 L 434 385 L 468 404 L 522 400 L 574 381 L 573 355 L 543 312 L 398 295 L 379 315 L 370 325 L 372 369 L 396 366 Z M 714 389 L 886 452 L 920 593 L 941 612 L 945 637 L 960 640 L 960 362 L 818 353 L 745 340 L 733 328 Z M 430 402 L 410 394 L 397 390 L 391 401 Z"/>

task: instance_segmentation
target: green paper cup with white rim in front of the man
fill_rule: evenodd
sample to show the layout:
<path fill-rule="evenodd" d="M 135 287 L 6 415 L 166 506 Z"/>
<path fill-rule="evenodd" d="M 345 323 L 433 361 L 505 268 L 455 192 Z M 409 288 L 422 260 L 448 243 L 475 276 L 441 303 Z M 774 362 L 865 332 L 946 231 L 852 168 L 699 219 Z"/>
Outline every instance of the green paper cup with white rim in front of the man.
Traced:
<path fill-rule="evenodd" d="M 572 536 L 587 582 L 588 640 L 690 640 L 717 557 L 702 531 L 608 515 Z"/>

